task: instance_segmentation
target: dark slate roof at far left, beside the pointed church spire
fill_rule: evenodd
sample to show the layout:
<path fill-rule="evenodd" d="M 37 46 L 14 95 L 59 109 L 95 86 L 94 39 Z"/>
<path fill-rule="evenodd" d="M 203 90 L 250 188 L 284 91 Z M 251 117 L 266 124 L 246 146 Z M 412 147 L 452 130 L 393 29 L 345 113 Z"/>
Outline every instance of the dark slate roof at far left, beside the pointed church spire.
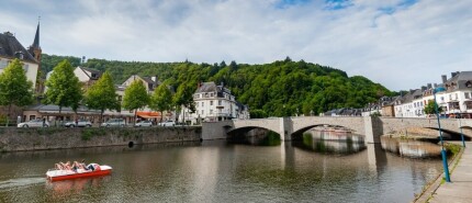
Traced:
<path fill-rule="evenodd" d="M 5 58 L 18 58 L 18 53 L 23 53 L 23 60 L 40 64 L 24 47 L 18 42 L 12 33 L 0 33 L 0 56 Z"/>

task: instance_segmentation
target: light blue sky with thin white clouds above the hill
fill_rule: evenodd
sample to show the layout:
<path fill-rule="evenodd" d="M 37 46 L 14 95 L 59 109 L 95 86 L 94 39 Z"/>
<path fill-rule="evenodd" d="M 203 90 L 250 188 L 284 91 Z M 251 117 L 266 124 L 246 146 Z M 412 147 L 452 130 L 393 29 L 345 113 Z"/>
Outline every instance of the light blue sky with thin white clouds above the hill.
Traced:
<path fill-rule="evenodd" d="M 471 70 L 472 1 L 0 0 L 0 32 L 44 53 L 263 64 L 290 56 L 392 90 Z"/>

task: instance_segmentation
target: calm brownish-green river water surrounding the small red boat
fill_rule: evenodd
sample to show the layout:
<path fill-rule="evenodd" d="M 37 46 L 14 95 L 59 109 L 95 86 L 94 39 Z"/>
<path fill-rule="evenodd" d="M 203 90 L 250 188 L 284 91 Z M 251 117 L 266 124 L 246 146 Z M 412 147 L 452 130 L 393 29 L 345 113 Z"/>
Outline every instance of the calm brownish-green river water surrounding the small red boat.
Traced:
<path fill-rule="evenodd" d="M 106 163 L 106 177 L 48 182 L 55 162 Z M 380 146 L 308 139 L 0 154 L 0 202 L 409 202 L 441 171 Z"/>

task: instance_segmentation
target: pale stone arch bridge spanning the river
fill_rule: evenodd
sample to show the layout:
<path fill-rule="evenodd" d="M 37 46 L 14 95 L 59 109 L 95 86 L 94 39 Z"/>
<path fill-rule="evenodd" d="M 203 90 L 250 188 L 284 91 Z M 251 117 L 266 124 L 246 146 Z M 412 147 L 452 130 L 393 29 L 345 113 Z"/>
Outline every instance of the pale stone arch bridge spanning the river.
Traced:
<path fill-rule="evenodd" d="M 401 119 L 401 117 L 334 117 L 334 116 L 300 116 L 274 117 L 257 120 L 228 120 L 202 124 L 203 139 L 227 138 L 227 134 L 234 131 L 250 131 L 266 128 L 276 132 L 282 140 L 291 140 L 293 136 L 321 125 L 342 126 L 356 134 L 364 135 L 366 143 L 380 143 L 380 135 L 404 132 L 408 127 L 424 127 L 438 129 L 436 119 Z M 459 133 L 463 129 L 465 136 L 472 135 L 472 120 L 441 120 L 443 132 Z"/>

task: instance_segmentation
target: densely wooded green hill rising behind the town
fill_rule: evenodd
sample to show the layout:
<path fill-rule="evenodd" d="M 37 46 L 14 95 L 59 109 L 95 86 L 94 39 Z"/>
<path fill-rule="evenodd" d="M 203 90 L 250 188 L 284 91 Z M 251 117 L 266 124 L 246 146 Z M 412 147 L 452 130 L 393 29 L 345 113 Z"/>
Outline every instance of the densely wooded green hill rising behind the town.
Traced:
<path fill-rule="evenodd" d="M 78 57 L 43 54 L 43 70 L 49 71 L 58 61 L 69 59 L 74 66 Z M 236 99 L 251 110 L 262 110 L 268 116 L 314 114 L 339 108 L 362 108 L 392 92 L 362 76 L 348 77 L 342 70 L 317 64 L 277 60 L 271 64 L 247 65 L 232 61 L 221 64 L 142 63 L 89 59 L 83 67 L 109 70 L 116 83 L 131 75 L 157 76 L 176 89 L 186 83 L 224 83 Z"/>

